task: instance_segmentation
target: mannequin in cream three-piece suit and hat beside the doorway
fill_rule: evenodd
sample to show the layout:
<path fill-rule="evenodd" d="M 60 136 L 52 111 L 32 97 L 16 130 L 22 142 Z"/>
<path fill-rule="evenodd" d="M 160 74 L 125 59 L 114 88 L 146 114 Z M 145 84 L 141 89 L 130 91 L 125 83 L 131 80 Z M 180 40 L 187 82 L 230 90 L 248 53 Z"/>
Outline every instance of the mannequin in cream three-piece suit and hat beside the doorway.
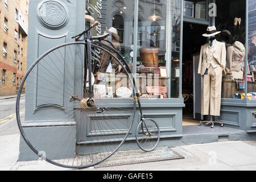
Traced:
<path fill-rule="evenodd" d="M 209 42 L 201 47 L 198 74 L 203 77 L 203 92 L 201 114 L 210 115 L 209 121 L 200 121 L 214 126 L 212 116 L 220 116 L 222 71 L 226 67 L 226 46 L 218 42 L 214 35 L 220 34 L 216 27 L 208 27 L 203 36 L 209 38 Z"/>

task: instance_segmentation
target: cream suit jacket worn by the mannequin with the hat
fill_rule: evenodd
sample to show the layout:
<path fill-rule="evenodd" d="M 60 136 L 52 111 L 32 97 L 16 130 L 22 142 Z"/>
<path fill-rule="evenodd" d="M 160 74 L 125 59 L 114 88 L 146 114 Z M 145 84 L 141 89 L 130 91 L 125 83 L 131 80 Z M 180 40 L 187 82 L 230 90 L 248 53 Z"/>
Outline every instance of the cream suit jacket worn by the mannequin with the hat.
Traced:
<path fill-rule="evenodd" d="M 225 43 L 218 42 L 217 40 L 213 42 L 213 46 L 210 47 L 209 43 L 201 46 L 200 59 L 198 74 L 203 76 L 209 65 L 213 68 L 221 67 L 225 69 L 226 67 L 226 46 Z"/>

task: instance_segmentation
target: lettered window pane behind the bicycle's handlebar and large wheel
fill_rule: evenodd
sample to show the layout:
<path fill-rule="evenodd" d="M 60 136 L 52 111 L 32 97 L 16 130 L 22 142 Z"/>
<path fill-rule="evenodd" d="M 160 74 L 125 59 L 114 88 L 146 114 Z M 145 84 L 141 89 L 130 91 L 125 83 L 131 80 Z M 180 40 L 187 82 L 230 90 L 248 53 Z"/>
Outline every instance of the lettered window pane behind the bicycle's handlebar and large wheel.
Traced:
<path fill-rule="evenodd" d="M 133 84 L 126 69 L 122 65 L 125 62 L 133 71 L 133 1 L 106 0 L 86 1 L 86 28 L 94 21 L 100 22 L 99 26 L 91 29 L 92 36 L 109 34 L 102 43 L 113 47 L 121 53 L 121 56 L 109 48 L 92 47 L 92 73 L 93 94 L 95 98 L 131 98 L 133 96 Z M 121 63 L 120 63 L 121 61 Z"/>

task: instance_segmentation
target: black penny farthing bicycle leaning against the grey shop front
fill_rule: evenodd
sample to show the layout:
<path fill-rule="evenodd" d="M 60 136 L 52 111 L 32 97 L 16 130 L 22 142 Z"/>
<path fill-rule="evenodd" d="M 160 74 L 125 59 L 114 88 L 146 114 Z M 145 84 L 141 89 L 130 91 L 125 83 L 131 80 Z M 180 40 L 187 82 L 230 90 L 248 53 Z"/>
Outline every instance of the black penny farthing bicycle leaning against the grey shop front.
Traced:
<path fill-rule="evenodd" d="M 60 167 L 86 168 L 110 158 L 129 136 L 137 107 L 141 114 L 135 135 L 138 146 L 152 151 L 159 143 L 159 126 L 144 117 L 129 66 L 104 40 L 109 34 L 90 36 L 97 25 L 73 37 L 76 42 L 40 56 L 18 91 L 16 119 L 22 137 L 35 154 Z M 24 119 L 19 113 L 23 86 Z"/>

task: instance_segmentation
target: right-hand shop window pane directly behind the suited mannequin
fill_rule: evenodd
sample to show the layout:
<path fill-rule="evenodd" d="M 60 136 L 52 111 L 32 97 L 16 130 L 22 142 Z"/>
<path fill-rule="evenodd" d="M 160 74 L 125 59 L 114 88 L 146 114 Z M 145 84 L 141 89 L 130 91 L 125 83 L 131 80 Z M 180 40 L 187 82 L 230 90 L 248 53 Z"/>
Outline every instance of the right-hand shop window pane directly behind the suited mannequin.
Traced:
<path fill-rule="evenodd" d="M 245 97 L 245 18 L 246 5 L 243 0 L 216 1 L 216 35 L 226 47 L 226 69 L 222 73 L 222 98 L 243 99 Z M 252 81 L 252 73 L 249 72 Z M 254 82 L 248 82 L 248 92 L 253 92 Z"/>

